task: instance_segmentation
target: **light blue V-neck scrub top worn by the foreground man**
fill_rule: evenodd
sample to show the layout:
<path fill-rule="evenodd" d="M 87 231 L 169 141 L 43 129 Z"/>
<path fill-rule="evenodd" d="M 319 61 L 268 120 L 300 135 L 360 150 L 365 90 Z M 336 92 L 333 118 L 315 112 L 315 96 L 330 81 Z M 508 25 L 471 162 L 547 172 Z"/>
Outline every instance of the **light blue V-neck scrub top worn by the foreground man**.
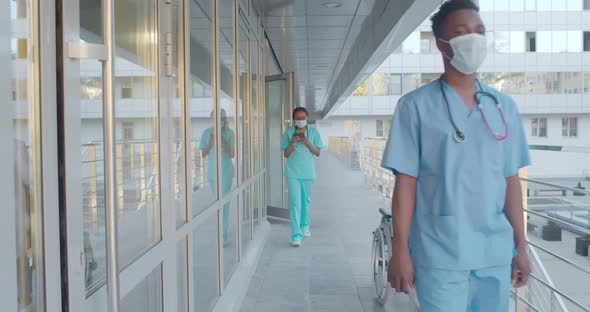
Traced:
<path fill-rule="evenodd" d="M 504 109 L 509 135 L 498 141 L 479 108 L 469 111 L 443 82 L 450 111 L 465 142 L 455 131 L 439 80 L 399 100 L 382 166 L 417 178 L 416 207 L 410 229 L 415 265 L 444 270 L 473 270 L 507 265 L 514 256 L 513 229 L 504 215 L 506 177 L 530 164 L 527 140 L 514 101 L 483 83 Z M 502 119 L 489 97 L 482 97 L 491 128 L 504 134 Z"/>

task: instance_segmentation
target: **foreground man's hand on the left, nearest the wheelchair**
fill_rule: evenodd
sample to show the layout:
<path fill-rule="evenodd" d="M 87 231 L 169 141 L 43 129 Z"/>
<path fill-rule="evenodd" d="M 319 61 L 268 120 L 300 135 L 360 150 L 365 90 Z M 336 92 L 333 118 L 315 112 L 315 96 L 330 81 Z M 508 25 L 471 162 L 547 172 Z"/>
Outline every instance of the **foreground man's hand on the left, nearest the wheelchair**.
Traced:
<path fill-rule="evenodd" d="M 392 240 L 393 255 L 389 260 L 387 280 L 398 293 L 408 294 L 414 288 L 414 264 L 408 248 Z"/>

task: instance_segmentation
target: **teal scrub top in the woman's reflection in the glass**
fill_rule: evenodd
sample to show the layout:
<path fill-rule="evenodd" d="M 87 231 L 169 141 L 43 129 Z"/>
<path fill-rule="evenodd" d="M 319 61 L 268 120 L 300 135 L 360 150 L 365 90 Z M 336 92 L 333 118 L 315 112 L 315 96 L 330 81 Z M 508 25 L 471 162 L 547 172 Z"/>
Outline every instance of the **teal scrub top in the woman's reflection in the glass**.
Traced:
<path fill-rule="evenodd" d="M 204 150 L 205 147 L 209 144 L 209 140 L 211 140 L 211 132 L 213 131 L 213 128 L 208 128 L 205 131 L 203 131 L 203 134 L 201 135 L 201 143 L 199 144 L 199 149 L 200 150 Z M 235 142 L 234 142 L 234 132 L 227 128 L 227 127 L 223 127 L 221 129 L 221 133 L 222 133 L 222 137 L 223 140 L 226 143 L 229 143 L 231 148 L 235 148 Z M 207 167 L 205 169 L 205 172 L 207 174 L 207 181 L 213 183 L 215 182 L 215 163 L 216 163 L 216 149 L 213 148 L 211 149 L 211 152 L 209 152 L 209 155 L 207 155 Z M 221 181 L 231 181 L 233 179 L 234 176 L 234 164 L 232 162 L 231 157 L 225 152 L 225 150 L 222 149 L 222 153 L 221 153 Z"/>

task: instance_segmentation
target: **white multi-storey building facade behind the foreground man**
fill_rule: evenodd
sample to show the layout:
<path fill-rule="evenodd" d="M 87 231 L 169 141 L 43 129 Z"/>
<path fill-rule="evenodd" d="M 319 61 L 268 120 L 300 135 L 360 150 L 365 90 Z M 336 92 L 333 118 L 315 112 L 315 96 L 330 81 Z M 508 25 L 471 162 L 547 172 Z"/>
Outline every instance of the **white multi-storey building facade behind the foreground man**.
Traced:
<path fill-rule="evenodd" d="M 489 41 L 480 79 L 518 104 L 534 162 L 530 175 L 590 176 L 590 1 L 479 4 Z M 329 119 L 319 123 L 324 135 L 387 136 L 399 98 L 443 72 L 430 25 L 427 20 L 418 27 Z"/>

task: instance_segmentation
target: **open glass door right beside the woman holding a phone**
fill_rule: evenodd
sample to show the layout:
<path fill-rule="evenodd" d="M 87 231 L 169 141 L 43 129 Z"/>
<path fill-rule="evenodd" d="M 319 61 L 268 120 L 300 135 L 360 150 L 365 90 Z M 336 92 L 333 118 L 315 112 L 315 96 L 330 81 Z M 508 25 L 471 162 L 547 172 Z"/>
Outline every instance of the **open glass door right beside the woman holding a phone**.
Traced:
<path fill-rule="evenodd" d="M 267 201 L 268 216 L 289 219 L 289 204 L 283 177 L 284 157 L 281 138 L 291 124 L 293 111 L 293 75 L 283 74 L 266 78 L 267 105 Z"/>

